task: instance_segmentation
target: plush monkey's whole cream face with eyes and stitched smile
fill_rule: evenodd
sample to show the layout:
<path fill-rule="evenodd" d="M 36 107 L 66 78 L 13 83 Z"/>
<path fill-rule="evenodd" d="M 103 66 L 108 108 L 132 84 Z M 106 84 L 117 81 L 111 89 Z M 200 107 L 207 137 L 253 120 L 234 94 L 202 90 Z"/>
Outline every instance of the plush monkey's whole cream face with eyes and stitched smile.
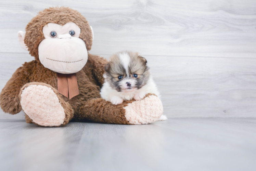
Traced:
<path fill-rule="evenodd" d="M 85 66 L 88 52 L 75 23 L 64 26 L 48 23 L 43 27 L 43 35 L 45 39 L 39 44 L 38 55 L 44 67 L 57 73 L 72 74 Z"/>

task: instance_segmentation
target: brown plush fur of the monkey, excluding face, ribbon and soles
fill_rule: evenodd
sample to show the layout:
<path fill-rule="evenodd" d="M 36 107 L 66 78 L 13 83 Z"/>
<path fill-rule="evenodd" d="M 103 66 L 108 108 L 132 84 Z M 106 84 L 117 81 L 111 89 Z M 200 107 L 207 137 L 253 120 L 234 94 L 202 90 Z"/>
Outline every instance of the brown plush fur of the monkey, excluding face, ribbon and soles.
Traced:
<path fill-rule="evenodd" d="M 0 94 L 0 106 L 5 113 L 17 114 L 21 111 L 20 92 L 31 84 L 44 85 L 53 89 L 65 111 L 65 121 L 91 120 L 103 123 L 129 124 L 125 118 L 125 102 L 112 105 L 100 98 L 100 87 L 104 82 L 104 66 L 107 61 L 88 53 L 84 68 L 76 73 L 79 95 L 68 99 L 57 92 L 57 73 L 45 68 L 39 61 L 38 45 L 44 39 L 42 28 L 47 23 L 64 25 L 74 22 L 81 28 L 80 38 L 85 41 L 87 50 L 91 49 L 92 33 L 90 26 L 80 13 L 69 8 L 49 8 L 38 13 L 26 27 L 25 43 L 34 61 L 26 62 L 18 68 Z M 26 121 L 33 121 L 26 115 Z"/>

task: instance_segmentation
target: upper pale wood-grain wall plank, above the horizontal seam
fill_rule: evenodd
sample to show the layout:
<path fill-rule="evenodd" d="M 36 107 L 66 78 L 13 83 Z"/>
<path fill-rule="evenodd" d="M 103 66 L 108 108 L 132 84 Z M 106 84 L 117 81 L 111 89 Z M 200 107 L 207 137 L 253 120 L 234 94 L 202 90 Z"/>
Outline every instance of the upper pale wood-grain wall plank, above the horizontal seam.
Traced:
<path fill-rule="evenodd" d="M 49 6 L 81 12 L 94 29 L 91 53 L 256 57 L 255 0 L 1 1 L 0 52 L 25 51 L 17 31 Z"/>

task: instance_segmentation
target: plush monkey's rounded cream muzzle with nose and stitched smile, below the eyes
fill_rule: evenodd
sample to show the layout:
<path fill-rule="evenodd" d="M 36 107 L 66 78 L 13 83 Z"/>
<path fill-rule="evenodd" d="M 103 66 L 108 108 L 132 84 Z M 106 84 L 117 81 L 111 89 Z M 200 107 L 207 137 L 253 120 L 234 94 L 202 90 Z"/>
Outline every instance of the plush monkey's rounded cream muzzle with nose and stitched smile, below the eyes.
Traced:
<path fill-rule="evenodd" d="M 38 55 L 44 67 L 61 74 L 77 73 L 88 59 L 85 42 L 69 34 L 44 39 L 39 44 Z"/>

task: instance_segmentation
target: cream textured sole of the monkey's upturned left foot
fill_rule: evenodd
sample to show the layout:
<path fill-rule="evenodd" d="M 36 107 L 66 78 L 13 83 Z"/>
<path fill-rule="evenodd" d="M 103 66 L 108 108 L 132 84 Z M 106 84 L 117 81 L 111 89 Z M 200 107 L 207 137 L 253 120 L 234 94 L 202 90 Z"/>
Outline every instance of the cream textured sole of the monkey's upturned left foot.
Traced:
<path fill-rule="evenodd" d="M 42 85 L 26 87 L 21 94 L 21 106 L 29 118 L 41 126 L 59 126 L 64 122 L 64 109 L 50 87 Z"/>

